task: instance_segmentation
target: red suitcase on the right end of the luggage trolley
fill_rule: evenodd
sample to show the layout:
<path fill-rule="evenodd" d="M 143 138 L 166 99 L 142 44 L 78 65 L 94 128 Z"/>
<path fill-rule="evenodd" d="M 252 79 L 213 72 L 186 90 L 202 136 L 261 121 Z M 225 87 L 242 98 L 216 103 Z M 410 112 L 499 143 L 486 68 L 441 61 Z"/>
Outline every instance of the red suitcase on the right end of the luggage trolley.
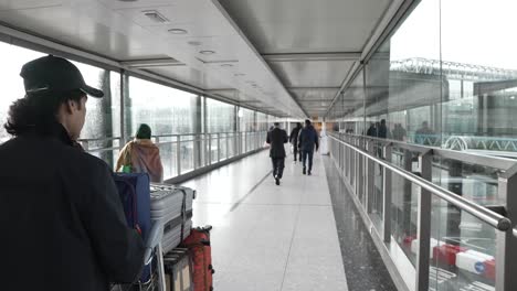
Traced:
<path fill-rule="evenodd" d="M 194 291 L 211 291 L 212 274 L 212 250 L 210 246 L 211 226 L 192 228 L 181 247 L 189 249 L 189 256 L 193 263 L 192 277 Z"/>

